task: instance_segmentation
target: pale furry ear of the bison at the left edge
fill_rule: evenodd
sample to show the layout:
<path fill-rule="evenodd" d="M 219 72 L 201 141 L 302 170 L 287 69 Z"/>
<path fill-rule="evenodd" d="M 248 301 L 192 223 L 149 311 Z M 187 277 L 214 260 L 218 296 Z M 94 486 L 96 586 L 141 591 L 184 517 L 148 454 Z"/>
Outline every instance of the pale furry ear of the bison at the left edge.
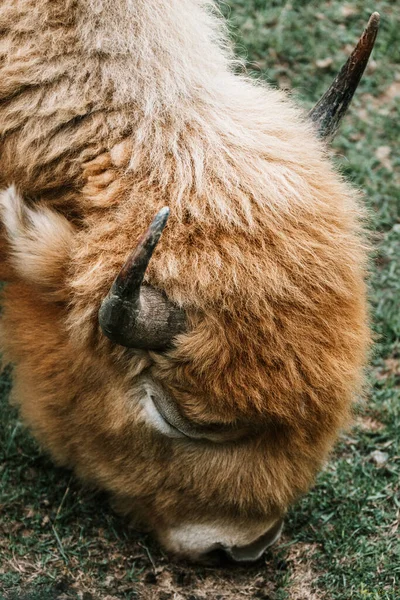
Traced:
<path fill-rule="evenodd" d="M 0 193 L 0 220 L 11 278 L 16 275 L 61 299 L 74 233 L 71 223 L 43 204 L 30 208 L 14 186 Z"/>

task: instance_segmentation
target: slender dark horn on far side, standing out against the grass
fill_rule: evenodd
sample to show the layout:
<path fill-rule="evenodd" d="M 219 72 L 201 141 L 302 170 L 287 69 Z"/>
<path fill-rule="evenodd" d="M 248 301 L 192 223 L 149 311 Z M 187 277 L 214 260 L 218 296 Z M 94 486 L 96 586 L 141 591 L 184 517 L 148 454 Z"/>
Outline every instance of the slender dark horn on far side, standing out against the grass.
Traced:
<path fill-rule="evenodd" d="M 379 20 L 379 13 L 375 12 L 371 15 L 350 58 L 329 90 L 309 113 L 309 117 L 316 124 L 319 137 L 323 139 L 330 140 L 334 137 L 349 107 L 374 47 Z"/>

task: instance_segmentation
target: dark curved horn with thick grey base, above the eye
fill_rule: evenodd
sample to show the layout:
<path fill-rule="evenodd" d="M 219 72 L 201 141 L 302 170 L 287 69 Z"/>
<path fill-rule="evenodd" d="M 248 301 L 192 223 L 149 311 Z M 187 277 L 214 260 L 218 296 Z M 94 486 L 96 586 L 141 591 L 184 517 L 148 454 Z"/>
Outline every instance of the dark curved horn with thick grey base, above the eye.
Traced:
<path fill-rule="evenodd" d="M 168 216 L 167 207 L 157 213 L 101 304 L 100 327 L 110 340 L 121 346 L 162 350 L 185 330 L 184 311 L 159 290 L 142 285 Z"/>

